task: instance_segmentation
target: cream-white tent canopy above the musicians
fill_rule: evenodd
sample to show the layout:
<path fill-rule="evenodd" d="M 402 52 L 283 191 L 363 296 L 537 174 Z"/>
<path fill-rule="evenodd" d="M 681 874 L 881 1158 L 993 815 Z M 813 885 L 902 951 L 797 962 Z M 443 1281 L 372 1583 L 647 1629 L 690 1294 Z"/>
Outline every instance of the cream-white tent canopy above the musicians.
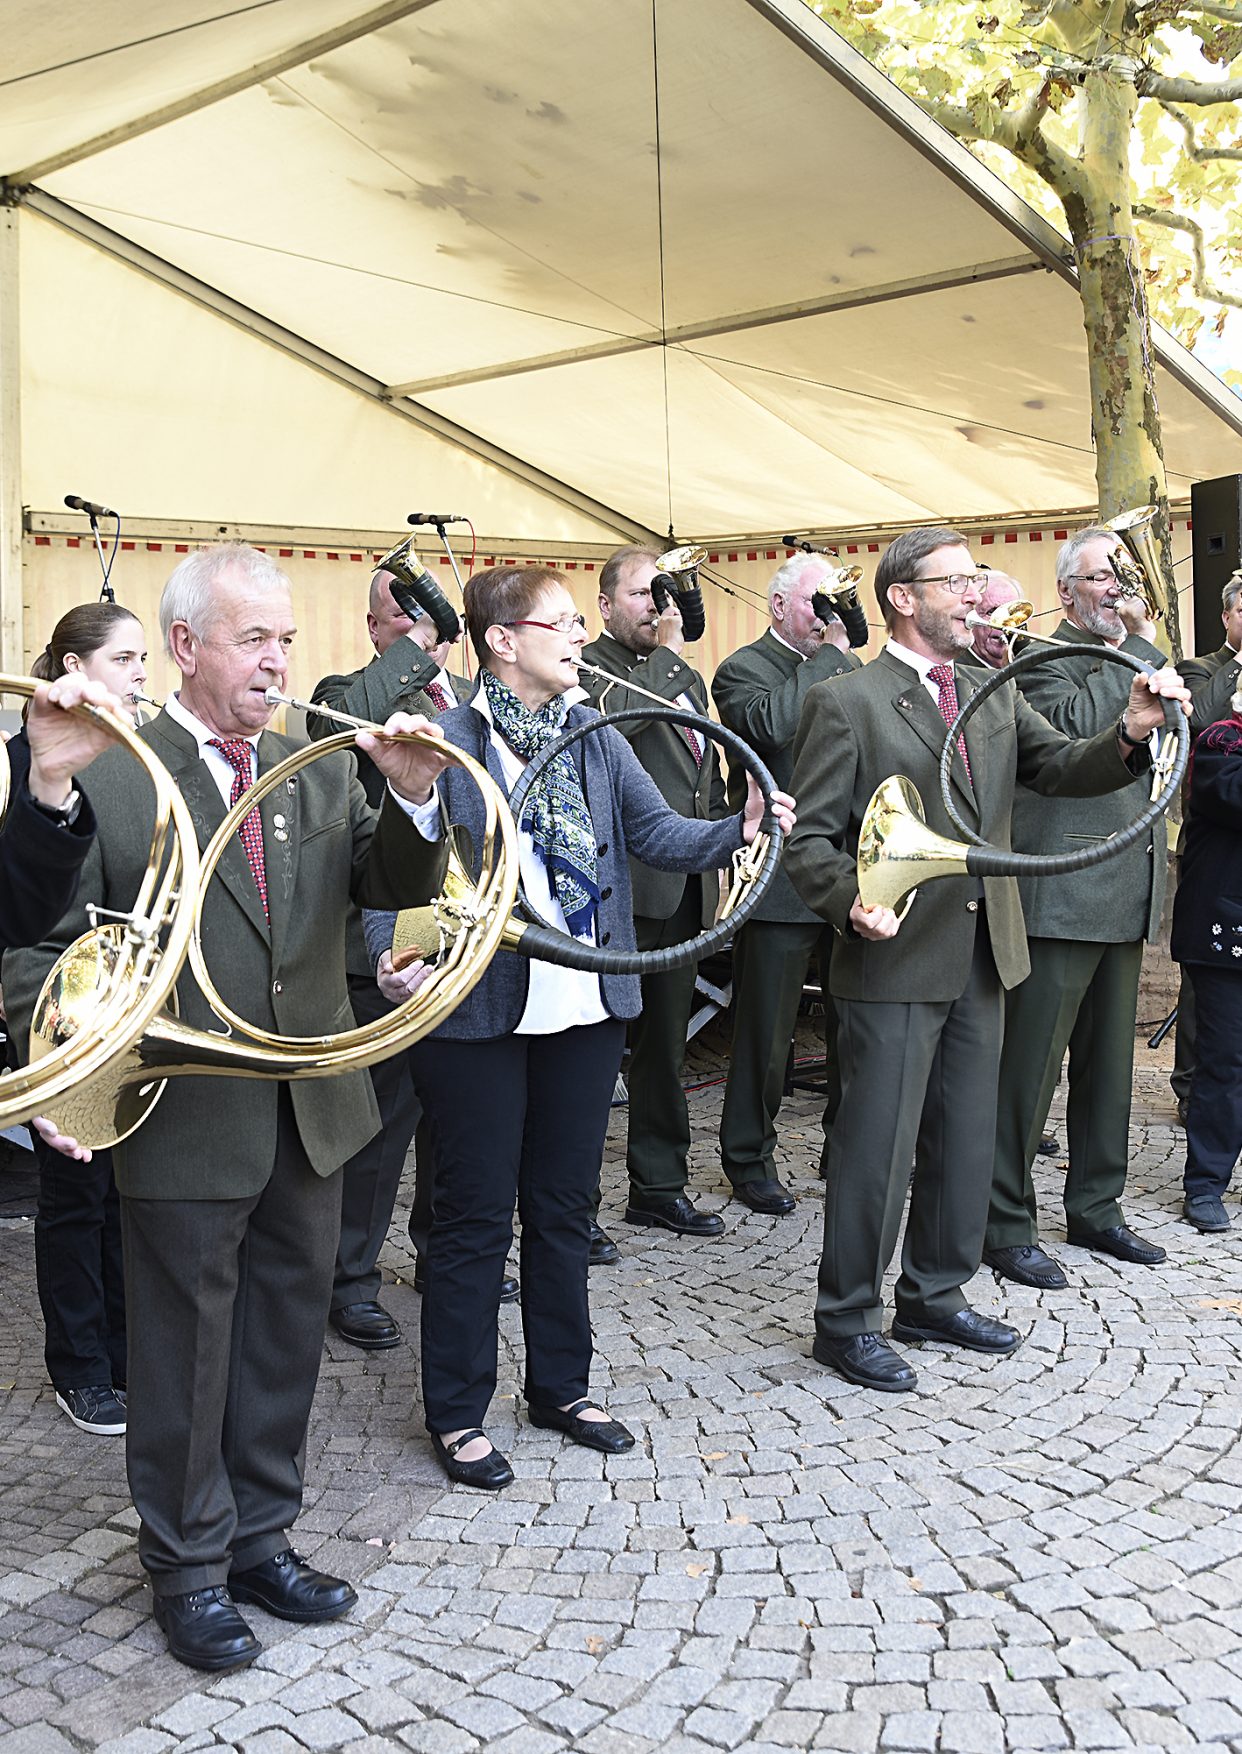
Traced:
<path fill-rule="evenodd" d="M 7 23 L 9 565 L 67 488 L 567 542 L 1095 500 L 1065 240 L 802 0 Z M 1156 351 L 1184 496 L 1242 468 L 1242 400 Z"/>

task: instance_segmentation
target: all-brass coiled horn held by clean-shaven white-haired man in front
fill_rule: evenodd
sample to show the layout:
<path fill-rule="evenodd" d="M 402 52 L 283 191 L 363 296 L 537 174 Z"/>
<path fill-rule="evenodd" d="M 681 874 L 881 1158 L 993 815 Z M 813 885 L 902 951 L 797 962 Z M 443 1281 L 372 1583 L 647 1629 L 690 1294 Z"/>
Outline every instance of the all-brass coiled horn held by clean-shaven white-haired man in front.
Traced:
<path fill-rule="evenodd" d="M 302 705 L 302 702 L 293 700 L 286 703 Z M 365 721 L 354 723 L 365 724 Z M 365 724 L 365 728 L 382 731 L 379 724 Z M 142 966 L 135 965 L 132 977 L 128 970 L 123 968 L 118 975 L 114 968 L 111 933 L 118 928 L 111 926 L 81 937 L 56 963 L 35 1007 L 30 1031 L 32 1058 L 35 1052 L 46 1054 L 49 1051 L 63 1054 L 79 1038 L 91 1037 L 98 1030 L 100 1007 L 107 1017 L 121 1012 L 121 1026 L 114 1031 L 111 1051 L 91 1056 L 89 1070 L 93 1075 L 79 1082 L 65 1102 L 40 1105 L 40 1112 L 49 1112 L 61 1131 L 88 1145 L 114 1145 L 146 1119 L 163 1094 L 165 1080 L 174 1077 L 216 1073 L 284 1080 L 356 1072 L 421 1040 L 467 996 L 491 961 L 512 910 L 518 893 L 518 835 L 503 795 L 486 768 L 439 737 L 432 738 L 425 731 L 410 731 L 403 737 L 428 744 L 458 766 L 467 768 L 484 798 L 482 875 L 461 903 L 461 931 L 418 993 L 396 1010 L 363 1028 L 342 1030 L 337 1035 L 282 1037 L 239 1017 L 221 998 L 207 968 L 200 940 L 202 909 L 207 884 L 225 849 L 242 819 L 270 791 L 275 791 L 312 761 L 353 747 L 354 733 L 342 731 L 286 756 L 284 761 L 260 775 L 256 784 L 226 812 L 202 856 L 202 866 L 198 868 L 195 863 L 191 868 L 188 861 L 181 884 L 181 907 L 168 924 L 168 944 L 163 952 L 154 944 L 163 916 L 151 909 L 149 917 L 142 921 L 144 933 L 140 937 L 147 961 Z M 135 742 L 144 751 L 144 765 L 154 779 L 153 770 L 160 770 L 160 763 L 154 761 L 146 744 L 137 738 Z M 163 779 L 172 789 L 179 810 L 184 812 L 189 847 L 196 847 L 193 824 L 181 795 L 167 774 Z M 154 865 L 149 866 L 147 882 L 153 868 Z M 209 1030 L 191 1028 L 170 1012 L 156 1016 L 186 958 L 195 980 L 225 1024 L 226 1033 L 216 1035 Z M 144 973 L 160 984 L 160 1002 L 154 1005 L 146 996 L 139 1003 L 139 986 Z"/>

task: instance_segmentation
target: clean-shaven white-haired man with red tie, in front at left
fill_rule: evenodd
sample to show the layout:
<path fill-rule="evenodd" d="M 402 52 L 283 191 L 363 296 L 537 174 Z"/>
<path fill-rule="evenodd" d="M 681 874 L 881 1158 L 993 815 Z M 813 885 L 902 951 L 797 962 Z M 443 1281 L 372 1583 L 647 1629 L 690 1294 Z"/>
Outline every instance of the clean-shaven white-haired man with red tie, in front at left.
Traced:
<path fill-rule="evenodd" d="M 296 633 L 289 581 L 240 544 L 188 556 L 160 602 L 175 695 L 139 730 L 172 774 L 200 845 L 298 744 L 270 731 Z M 426 726 L 395 714 L 389 730 Z M 219 861 L 202 945 L 225 1000 L 281 1035 L 353 1028 L 346 988 L 351 900 L 391 900 L 419 844 L 405 809 L 444 759 L 425 745 L 358 742 L 384 774 L 379 816 L 353 754 L 337 751 L 251 810 Z M 125 751 L 91 766 L 98 838 L 77 900 L 37 949 L 5 958 L 9 1014 L 25 1031 L 44 975 L 88 926 L 116 917 L 146 875 L 154 791 Z M 219 1030 L 196 982 L 177 982 L 184 1023 Z M 328 1621 L 347 1582 L 291 1549 L 305 1437 L 340 1228 L 340 1165 L 375 1131 L 365 1072 L 333 1079 L 181 1077 L 114 1151 L 128 1301 L 128 1472 L 139 1558 L 170 1652 L 203 1670 L 251 1663 L 253 1601 Z"/>

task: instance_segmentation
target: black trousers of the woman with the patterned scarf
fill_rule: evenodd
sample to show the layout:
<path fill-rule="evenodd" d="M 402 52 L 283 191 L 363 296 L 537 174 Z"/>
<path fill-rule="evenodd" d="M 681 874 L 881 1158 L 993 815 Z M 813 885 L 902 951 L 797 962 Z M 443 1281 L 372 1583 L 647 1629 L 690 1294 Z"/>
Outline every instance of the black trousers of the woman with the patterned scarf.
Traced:
<path fill-rule="evenodd" d="M 525 1394 L 586 1394 L 591 1200 L 625 1024 L 410 1049 L 435 1154 L 423 1289 L 428 1431 L 481 1426 L 496 1389 L 496 1312 L 514 1203 L 521 1217 Z"/>

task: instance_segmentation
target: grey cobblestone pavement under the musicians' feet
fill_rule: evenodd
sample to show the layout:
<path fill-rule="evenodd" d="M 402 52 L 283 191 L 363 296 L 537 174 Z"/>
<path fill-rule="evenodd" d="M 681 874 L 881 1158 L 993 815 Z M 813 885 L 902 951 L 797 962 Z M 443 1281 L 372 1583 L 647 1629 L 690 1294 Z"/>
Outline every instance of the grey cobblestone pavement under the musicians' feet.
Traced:
<path fill-rule="evenodd" d="M 1040 1161 L 1072 1289 L 981 1273 L 974 1301 L 1026 1344 L 910 1349 L 905 1396 L 809 1356 L 814 1098 L 786 1109 L 789 1219 L 724 1205 L 719 1089 L 693 1098 L 695 1184 L 730 1231 L 703 1244 L 619 1221 L 614 1116 L 603 1216 L 625 1258 L 593 1273 L 595 1389 L 639 1447 L 605 1463 L 519 1417 L 503 1310 L 489 1430 L 518 1479 L 446 1491 L 414 1347 L 333 1337 L 298 1542 L 361 1601 L 318 1628 L 247 1610 L 267 1649 L 216 1680 L 163 1652 L 121 1444 L 56 1410 L 30 1226 L 4 1228 L 0 1754 L 1242 1750 L 1242 1226 L 1181 1223 L 1168 1086 L 1138 1061 L 1128 1216 L 1168 1265 L 1060 1242 Z M 396 1228 L 386 1266 L 414 1337 Z"/>

